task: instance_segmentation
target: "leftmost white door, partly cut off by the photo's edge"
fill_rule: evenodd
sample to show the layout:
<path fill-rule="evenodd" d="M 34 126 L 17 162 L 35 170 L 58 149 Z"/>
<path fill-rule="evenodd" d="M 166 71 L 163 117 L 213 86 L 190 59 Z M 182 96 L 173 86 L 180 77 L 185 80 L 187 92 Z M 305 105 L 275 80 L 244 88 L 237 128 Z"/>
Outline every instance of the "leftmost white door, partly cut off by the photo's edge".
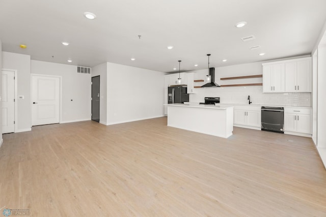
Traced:
<path fill-rule="evenodd" d="M 15 72 L 2 71 L 2 132 L 15 132 Z"/>

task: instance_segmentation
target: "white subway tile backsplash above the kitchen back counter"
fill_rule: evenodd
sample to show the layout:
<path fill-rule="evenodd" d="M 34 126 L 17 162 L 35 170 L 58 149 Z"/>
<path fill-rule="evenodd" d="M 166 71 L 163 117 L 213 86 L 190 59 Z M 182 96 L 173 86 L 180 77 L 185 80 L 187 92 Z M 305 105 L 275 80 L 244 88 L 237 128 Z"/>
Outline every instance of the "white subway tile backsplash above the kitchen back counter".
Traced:
<path fill-rule="evenodd" d="M 198 88 L 197 94 L 190 94 L 189 101 L 203 102 L 204 97 L 221 97 L 221 103 L 248 103 L 250 95 L 253 104 L 311 106 L 311 93 L 262 93 L 262 86 Z"/>

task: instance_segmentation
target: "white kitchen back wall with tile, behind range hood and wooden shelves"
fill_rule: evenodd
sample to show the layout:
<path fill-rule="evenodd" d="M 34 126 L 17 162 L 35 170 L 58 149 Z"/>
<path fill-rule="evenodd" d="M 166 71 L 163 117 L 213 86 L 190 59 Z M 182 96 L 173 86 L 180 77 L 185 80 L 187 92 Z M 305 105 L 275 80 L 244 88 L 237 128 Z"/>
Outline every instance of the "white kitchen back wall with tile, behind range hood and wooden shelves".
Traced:
<path fill-rule="evenodd" d="M 261 77 L 236 80 L 220 79 L 221 77 L 262 74 L 262 63 L 263 62 L 256 62 L 233 66 L 216 67 L 215 83 L 219 85 L 262 83 Z M 196 72 L 195 79 L 205 79 L 205 75 L 207 75 L 208 69 L 198 70 L 194 72 Z M 248 95 L 250 95 L 251 101 L 254 104 L 311 106 L 311 93 L 262 93 L 262 86 L 198 88 L 196 91 L 197 94 L 190 95 L 189 100 L 191 102 L 203 102 L 204 97 L 206 96 L 216 96 L 221 97 L 221 103 L 248 103 Z"/>

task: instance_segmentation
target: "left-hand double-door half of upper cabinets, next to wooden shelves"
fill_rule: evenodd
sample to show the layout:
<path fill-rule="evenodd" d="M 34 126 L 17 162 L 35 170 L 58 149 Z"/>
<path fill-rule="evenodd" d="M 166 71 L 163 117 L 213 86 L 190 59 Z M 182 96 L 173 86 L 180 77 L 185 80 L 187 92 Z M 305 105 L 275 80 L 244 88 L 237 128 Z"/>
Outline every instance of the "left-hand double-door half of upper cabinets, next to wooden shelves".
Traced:
<path fill-rule="evenodd" d="M 285 90 L 285 65 L 263 64 L 263 92 L 277 93 Z"/>

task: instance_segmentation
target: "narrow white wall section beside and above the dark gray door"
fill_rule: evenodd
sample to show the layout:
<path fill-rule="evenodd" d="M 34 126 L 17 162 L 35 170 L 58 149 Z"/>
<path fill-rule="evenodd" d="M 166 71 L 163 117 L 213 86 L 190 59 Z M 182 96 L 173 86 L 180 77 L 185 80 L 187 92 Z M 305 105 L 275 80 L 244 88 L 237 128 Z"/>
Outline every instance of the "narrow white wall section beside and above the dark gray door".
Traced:
<path fill-rule="evenodd" d="M 100 76 L 100 123 L 106 125 L 106 111 L 107 111 L 107 63 L 102 63 L 92 68 L 92 77 Z"/>

